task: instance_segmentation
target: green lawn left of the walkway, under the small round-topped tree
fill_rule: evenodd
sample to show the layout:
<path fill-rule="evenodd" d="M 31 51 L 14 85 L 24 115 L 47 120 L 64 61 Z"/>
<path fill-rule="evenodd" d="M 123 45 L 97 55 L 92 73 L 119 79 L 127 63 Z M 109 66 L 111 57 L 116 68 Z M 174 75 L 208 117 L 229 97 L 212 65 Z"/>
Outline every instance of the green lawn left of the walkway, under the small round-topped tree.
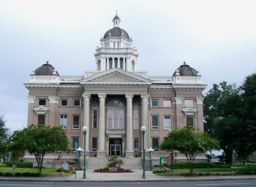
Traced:
<path fill-rule="evenodd" d="M 2 173 L 13 173 L 13 168 L 0 168 Z M 38 169 L 32 168 L 16 168 L 15 173 L 38 173 Z M 42 169 L 42 174 L 60 174 L 60 172 L 55 171 L 55 169 Z M 73 175 L 73 173 L 65 173 L 65 175 Z"/>

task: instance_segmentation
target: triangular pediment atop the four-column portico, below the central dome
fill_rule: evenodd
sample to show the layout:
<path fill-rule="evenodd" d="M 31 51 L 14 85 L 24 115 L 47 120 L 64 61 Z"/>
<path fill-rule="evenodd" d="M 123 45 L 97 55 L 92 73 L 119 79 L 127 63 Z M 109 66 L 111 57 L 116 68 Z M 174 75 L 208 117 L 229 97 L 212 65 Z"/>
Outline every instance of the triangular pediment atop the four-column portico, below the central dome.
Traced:
<path fill-rule="evenodd" d="M 152 82 L 123 69 L 113 68 L 80 80 L 81 84 L 151 84 Z"/>

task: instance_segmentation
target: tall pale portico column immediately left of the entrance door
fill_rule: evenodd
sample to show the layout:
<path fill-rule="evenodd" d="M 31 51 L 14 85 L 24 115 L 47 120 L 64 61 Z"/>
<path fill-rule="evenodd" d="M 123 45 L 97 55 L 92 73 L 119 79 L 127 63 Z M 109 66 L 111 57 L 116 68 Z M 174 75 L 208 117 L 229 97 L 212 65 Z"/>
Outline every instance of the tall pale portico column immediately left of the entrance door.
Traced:
<path fill-rule="evenodd" d="M 105 98 L 106 94 L 98 94 L 100 98 L 100 112 L 98 124 L 98 151 L 97 157 L 106 157 L 105 151 Z"/>

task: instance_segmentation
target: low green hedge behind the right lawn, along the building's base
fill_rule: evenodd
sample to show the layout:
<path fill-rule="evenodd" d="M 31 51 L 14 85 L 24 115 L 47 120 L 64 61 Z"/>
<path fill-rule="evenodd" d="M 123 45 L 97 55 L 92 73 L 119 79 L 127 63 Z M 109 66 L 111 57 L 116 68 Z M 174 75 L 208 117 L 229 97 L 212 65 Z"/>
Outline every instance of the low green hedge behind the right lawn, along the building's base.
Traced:
<path fill-rule="evenodd" d="M 167 166 L 167 164 L 163 164 L 163 166 Z M 155 165 L 154 167 L 160 167 L 159 165 Z M 217 164 L 215 162 L 195 162 L 194 169 L 202 169 L 202 168 L 230 168 L 229 164 Z M 174 162 L 173 169 L 189 169 L 188 162 Z"/>

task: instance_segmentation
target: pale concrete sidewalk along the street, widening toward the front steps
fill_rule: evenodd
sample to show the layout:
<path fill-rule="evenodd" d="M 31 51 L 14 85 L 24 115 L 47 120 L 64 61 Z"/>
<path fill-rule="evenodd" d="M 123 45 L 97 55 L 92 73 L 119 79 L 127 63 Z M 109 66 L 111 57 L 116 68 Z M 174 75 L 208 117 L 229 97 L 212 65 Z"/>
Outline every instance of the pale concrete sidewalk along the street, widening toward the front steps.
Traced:
<path fill-rule="evenodd" d="M 94 173 L 93 169 L 86 171 L 86 179 L 83 179 L 83 171 L 77 171 L 71 176 L 47 176 L 47 177 L 0 177 L 0 181 L 37 181 L 37 182 L 170 182 L 170 181 L 213 181 L 213 180 L 250 180 L 256 179 L 256 175 L 234 176 L 160 176 L 152 171 L 145 171 L 146 178 L 142 178 L 142 170 L 134 170 L 132 173 Z"/>

